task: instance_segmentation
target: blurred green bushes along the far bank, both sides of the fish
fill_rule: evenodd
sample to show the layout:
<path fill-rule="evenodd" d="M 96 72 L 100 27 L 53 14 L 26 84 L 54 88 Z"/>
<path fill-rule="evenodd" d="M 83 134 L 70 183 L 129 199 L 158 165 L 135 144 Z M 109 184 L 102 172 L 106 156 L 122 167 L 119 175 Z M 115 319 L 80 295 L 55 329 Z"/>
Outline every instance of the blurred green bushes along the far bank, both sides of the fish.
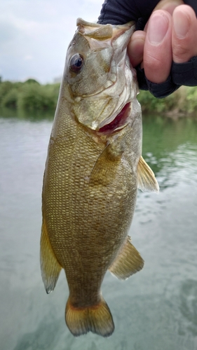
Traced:
<path fill-rule="evenodd" d="M 24 83 L 0 81 L 0 109 L 10 109 L 21 113 L 55 112 L 60 83 L 41 85 L 34 79 Z M 197 87 L 179 87 L 164 99 L 156 99 L 148 91 L 140 91 L 137 96 L 142 113 L 165 114 L 171 118 L 197 114 Z"/>

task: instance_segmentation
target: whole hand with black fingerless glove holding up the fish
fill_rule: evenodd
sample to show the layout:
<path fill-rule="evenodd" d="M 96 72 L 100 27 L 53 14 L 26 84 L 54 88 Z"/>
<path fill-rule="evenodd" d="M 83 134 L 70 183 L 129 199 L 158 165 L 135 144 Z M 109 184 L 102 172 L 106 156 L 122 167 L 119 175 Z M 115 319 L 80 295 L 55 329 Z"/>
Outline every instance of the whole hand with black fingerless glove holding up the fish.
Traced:
<path fill-rule="evenodd" d="M 128 55 L 140 89 L 161 98 L 181 85 L 197 85 L 196 15 L 196 0 L 104 0 L 98 22 L 135 20 L 144 29 L 131 37 Z"/>

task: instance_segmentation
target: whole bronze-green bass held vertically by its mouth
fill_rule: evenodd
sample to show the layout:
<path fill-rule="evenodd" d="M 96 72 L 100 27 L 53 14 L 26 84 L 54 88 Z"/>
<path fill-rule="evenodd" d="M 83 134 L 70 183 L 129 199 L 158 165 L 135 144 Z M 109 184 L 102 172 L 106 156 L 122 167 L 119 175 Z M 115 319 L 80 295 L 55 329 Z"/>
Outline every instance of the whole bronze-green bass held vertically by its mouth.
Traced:
<path fill-rule="evenodd" d="M 107 270 L 124 280 L 144 266 L 128 230 L 137 188 L 158 192 L 158 183 L 142 158 L 139 90 L 127 55 L 134 23 L 79 18 L 76 25 L 43 175 L 41 276 L 50 293 L 64 269 L 74 336 L 109 337 L 114 321 L 102 281 Z"/>

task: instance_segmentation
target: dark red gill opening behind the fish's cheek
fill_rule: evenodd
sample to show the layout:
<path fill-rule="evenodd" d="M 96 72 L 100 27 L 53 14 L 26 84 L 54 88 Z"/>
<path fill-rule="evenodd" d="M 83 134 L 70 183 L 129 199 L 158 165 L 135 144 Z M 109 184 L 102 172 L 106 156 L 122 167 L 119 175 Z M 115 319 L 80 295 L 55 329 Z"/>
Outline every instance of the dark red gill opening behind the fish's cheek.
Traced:
<path fill-rule="evenodd" d="M 117 114 L 114 120 L 111 120 L 109 124 L 100 127 L 97 132 L 102 134 L 111 134 L 117 130 L 123 129 L 128 124 L 128 117 L 130 116 L 130 102 L 123 106 L 123 109 Z"/>

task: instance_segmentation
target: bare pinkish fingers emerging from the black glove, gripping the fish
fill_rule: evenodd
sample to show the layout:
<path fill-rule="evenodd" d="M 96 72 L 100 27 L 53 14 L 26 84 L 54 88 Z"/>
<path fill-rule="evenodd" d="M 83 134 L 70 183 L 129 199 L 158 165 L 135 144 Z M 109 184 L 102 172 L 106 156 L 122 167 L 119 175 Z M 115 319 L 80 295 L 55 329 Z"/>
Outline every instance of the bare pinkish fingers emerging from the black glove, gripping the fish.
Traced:
<path fill-rule="evenodd" d="M 182 0 L 160 1 L 144 31 L 135 31 L 131 37 L 128 55 L 134 67 L 141 63 L 152 83 L 165 82 L 172 61 L 188 62 L 197 55 L 197 19 L 193 8 Z"/>

